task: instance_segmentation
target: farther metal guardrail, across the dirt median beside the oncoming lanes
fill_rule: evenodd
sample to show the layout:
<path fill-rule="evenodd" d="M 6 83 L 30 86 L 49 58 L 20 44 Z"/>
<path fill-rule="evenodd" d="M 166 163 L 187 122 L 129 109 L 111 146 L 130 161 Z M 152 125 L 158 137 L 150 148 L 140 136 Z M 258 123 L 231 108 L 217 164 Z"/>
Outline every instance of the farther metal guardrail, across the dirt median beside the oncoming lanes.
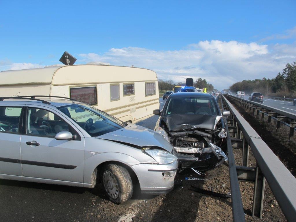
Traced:
<path fill-rule="evenodd" d="M 290 131 L 289 131 L 289 141 L 293 139 L 294 135 L 294 128 L 296 127 L 296 114 L 292 112 L 287 112 L 285 110 L 280 110 L 276 109 L 271 106 L 266 106 L 263 104 L 259 104 L 258 102 L 253 102 L 247 99 L 242 99 L 236 96 L 231 96 L 231 95 L 225 95 L 229 98 L 235 99 L 239 105 L 252 110 L 253 115 L 259 115 L 259 112 L 261 112 L 261 120 L 264 118 L 264 114 L 266 113 L 268 115 L 268 123 L 271 122 L 271 117 L 277 118 L 277 124 L 276 124 L 276 131 L 281 126 L 281 121 L 286 122 L 290 126 Z"/>

